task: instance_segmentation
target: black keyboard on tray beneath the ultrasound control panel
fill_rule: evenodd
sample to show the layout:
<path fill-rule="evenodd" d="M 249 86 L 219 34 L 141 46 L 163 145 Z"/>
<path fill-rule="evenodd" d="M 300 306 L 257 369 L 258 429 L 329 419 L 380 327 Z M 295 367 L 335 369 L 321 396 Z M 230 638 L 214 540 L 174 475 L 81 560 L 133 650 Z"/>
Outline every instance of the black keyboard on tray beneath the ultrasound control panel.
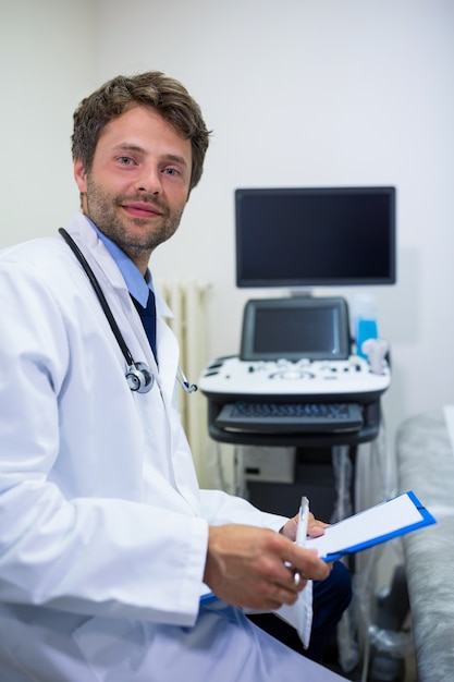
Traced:
<path fill-rule="evenodd" d="M 223 405 L 214 424 L 228 430 L 267 434 L 358 431 L 363 411 L 356 403 L 261 403 Z"/>

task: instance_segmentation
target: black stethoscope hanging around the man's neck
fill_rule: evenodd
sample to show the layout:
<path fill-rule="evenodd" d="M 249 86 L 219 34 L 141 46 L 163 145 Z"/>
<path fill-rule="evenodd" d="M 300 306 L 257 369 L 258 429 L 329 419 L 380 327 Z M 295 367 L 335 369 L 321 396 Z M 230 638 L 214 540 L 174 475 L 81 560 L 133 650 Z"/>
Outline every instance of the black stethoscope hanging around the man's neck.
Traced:
<path fill-rule="evenodd" d="M 113 317 L 112 310 L 109 307 L 102 289 L 98 280 L 96 279 L 95 272 L 91 270 L 87 259 L 85 258 L 84 254 L 82 253 L 73 238 L 63 228 L 60 228 L 59 232 L 84 268 L 84 271 L 89 279 L 91 287 L 95 290 L 96 296 L 101 304 L 102 312 L 107 317 L 113 336 L 115 337 L 116 343 L 119 344 L 121 352 L 123 353 L 124 360 L 126 361 L 127 386 L 132 391 L 137 391 L 138 393 L 148 393 L 148 391 L 151 390 L 155 383 L 155 375 L 152 374 L 149 365 L 147 365 L 146 363 L 136 362 L 134 360 L 130 349 L 126 345 L 126 341 L 124 340 L 124 337 L 120 331 L 120 327 L 118 326 L 115 318 Z M 195 383 L 189 383 L 181 367 L 177 368 L 176 380 L 180 382 L 186 393 L 194 393 L 194 391 L 197 390 L 197 386 Z"/>

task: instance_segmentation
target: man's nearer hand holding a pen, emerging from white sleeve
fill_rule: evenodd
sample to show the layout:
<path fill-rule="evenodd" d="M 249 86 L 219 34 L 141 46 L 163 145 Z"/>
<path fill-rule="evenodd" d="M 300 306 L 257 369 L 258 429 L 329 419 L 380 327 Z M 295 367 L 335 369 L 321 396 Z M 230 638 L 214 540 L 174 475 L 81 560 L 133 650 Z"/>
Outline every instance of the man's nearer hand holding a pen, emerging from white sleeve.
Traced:
<path fill-rule="evenodd" d="M 315 550 L 274 531 L 240 524 L 209 528 L 204 581 L 226 604 L 274 610 L 294 604 L 308 579 L 323 580 L 329 572 Z"/>

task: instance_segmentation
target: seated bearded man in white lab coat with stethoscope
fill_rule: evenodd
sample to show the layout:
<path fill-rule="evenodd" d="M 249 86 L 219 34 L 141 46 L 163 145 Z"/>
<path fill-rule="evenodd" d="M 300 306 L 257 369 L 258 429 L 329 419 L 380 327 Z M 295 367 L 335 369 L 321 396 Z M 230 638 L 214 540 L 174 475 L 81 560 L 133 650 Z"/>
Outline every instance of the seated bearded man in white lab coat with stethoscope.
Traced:
<path fill-rule="evenodd" d="M 321 585 L 332 629 L 349 583 L 327 592 L 339 568 L 328 577 L 292 541 L 295 519 L 198 489 L 170 312 L 157 292 L 156 320 L 147 307 L 149 257 L 180 223 L 208 137 L 180 83 L 112 80 L 74 114 L 82 212 L 64 239 L 0 256 L 5 682 L 334 679 L 243 609 L 296 605 L 309 579 L 327 579 L 316 614 Z M 323 527 L 311 519 L 309 533 Z"/>

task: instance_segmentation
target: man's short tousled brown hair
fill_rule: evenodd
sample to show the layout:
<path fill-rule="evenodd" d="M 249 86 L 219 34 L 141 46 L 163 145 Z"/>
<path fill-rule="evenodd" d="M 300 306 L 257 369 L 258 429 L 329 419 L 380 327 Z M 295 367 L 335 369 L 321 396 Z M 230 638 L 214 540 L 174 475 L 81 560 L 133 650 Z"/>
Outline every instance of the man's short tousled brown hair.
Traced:
<path fill-rule="evenodd" d="M 82 161 L 85 171 L 89 172 L 102 129 L 134 103 L 156 109 L 185 139 L 191 139 L 191 191 L 201 178 L 210 133 L 199 106 L 186 88 L 159 71 L 131 77 L 116 76 L 82 100 L 74 112 L 73 159 Z"/>

